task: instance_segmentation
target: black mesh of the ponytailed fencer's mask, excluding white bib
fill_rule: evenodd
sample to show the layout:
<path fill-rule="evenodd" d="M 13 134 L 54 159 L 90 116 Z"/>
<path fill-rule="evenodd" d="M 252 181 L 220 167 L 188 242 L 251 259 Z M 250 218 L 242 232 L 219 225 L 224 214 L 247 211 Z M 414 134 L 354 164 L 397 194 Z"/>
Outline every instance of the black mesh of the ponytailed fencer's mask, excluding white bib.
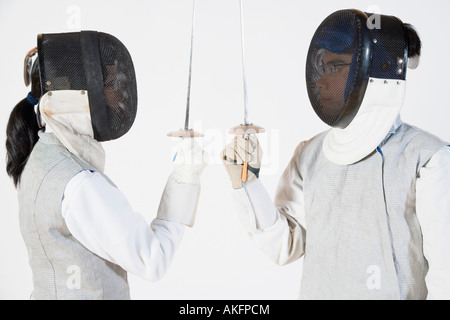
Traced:
<path fill-rule="evenodd" d="M 137 112 L 134 66 L 126 47 L 96 31 L 38 36 L 42 94 L 87 90 L 94 138 L 121 137 Z"/>

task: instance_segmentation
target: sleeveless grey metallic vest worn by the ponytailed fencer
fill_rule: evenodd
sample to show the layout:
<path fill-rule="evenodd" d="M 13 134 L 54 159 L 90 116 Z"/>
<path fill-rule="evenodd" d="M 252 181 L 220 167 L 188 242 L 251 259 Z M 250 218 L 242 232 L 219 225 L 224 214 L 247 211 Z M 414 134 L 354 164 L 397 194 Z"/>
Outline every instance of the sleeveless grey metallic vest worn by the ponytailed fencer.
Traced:
<path fill-rule="evenodd" d="M 22 173 L 20 229 L 33 272 L 35 299 L 129 299 L 127 273 L 86 249 L 61 215 L 70 179 L 91 169 L 53 134 L 39 132 Z"/>

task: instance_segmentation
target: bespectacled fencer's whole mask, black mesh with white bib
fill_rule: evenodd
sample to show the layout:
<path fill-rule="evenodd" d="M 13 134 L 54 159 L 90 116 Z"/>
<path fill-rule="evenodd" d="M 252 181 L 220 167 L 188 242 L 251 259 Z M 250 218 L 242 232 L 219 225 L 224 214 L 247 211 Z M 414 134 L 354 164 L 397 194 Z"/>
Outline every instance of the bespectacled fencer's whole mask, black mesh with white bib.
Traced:
<path fill-rule="evenodd" d="M 306 83 L 312 107 L 332 128 L 326 157 L 355 163 L 386 137 L 403 106 L 408 61 L 405 27 L 393 16 L 340 10 L 317 28 Z"/>

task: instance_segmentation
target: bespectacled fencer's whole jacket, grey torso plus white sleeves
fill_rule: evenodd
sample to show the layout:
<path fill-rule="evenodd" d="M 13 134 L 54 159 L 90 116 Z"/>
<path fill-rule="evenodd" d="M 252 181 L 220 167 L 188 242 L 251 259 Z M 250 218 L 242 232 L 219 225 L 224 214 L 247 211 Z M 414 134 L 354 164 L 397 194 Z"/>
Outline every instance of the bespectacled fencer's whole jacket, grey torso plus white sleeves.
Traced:
<path fill-rule="evenodd" d="M 301 299 L 450 299 L 450 147 L 394 125 L 362 161 L 336 165 L 324 133 L 296 148 L 271 200 L 233 190 L 255 244 L 278 264 L 303 258 Z"/>

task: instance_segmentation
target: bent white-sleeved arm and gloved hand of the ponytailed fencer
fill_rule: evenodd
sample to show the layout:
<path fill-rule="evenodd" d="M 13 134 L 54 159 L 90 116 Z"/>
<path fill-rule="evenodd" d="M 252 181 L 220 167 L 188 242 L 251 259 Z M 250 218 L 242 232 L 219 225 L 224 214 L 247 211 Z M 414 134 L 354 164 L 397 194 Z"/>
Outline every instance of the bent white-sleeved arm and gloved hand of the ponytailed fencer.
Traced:
<path fill-rule="evenodd" d="M 68 229 L 102 258 L 144 279 L 159 280 L 170 266 L 185 227 L 194 223 L 203 155 L 197 143 L 181 143 L 157 218 L 150 225 L 101 173 L 80 172 L 64 192 L 62 213 Z"/>

